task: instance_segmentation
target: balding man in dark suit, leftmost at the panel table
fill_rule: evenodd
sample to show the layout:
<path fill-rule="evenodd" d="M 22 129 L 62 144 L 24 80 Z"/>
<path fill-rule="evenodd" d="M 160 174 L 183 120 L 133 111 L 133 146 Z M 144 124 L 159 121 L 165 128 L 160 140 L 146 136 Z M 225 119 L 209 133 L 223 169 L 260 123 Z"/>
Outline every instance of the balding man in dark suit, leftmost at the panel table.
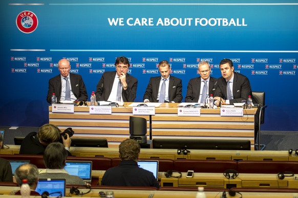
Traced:
<path fill-rule="evenodd" d="M 49 80 L 49 90 L 47 101 L 52 103 L 51 97 L 55 93 L 57 101 L 87 101 L 88 95 L 82 77 L 78 74 L 70 73 L 70 62 L 63 58 L 58 62 L 60 74 Z M 69 84 L 69 92 L 67 92 L 67 84 Z M 69 96 L 69 97 L 68 97 Z"/>

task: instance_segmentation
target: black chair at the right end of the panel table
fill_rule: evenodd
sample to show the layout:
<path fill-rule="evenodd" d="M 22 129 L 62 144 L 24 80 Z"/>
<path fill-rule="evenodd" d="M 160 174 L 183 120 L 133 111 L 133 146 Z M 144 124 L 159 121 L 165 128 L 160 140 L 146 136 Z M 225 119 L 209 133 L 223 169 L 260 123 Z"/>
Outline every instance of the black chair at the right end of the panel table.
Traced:
<path fill-rule="evenodd" d="M 259 104 L 258 108 L 260 108 L 260 112 L 259 112 L 258 150 L 264 150 L 266 145 L 261 144 L 261 124 L 264 124 L 264 122 L 265 122 L 265 108 L 267 107 L 267 105 L 265 104 L 265 92 L 253 91 L 252 92 L 252 97 Z"/>

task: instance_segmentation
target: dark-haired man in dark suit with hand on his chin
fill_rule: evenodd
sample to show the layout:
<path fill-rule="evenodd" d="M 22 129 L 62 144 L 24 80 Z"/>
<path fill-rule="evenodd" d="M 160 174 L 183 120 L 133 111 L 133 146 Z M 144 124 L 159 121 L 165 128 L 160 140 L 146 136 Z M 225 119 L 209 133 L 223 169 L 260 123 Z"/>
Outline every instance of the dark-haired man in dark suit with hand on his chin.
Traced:
<path fill-rule="evenodd" d="M 96 100 L 133 102 L 137 95 L 138 80 L 127 74 L 130 61 L 120 56 L 116 58 L 115 66 L 116 71 L 102 74 L 96 86 Z"/>

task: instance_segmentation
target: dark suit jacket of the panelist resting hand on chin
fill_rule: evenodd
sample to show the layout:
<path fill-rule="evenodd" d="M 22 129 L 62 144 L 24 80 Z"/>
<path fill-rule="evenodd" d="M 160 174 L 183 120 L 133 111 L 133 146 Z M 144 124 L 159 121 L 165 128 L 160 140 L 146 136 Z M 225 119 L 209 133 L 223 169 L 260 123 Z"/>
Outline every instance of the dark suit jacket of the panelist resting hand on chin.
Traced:
<path fill-rule="evenodd" d="M 113 88 L 116 71 L 104 72 L 96 86 L 96 101 L 107 101 Z M 122 88 L 122 99 L 124 102 L 133 102 L 137 96 L 138 80 L 126 74 L 126 83 L 129 87 L 126 90 Z"/>

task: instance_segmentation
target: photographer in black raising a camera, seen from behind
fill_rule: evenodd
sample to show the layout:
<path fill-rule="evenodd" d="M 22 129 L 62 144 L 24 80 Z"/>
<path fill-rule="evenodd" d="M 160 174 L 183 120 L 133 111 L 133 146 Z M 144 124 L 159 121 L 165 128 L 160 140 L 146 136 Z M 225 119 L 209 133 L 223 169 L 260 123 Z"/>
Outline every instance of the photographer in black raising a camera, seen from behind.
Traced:
<path fill-rule="evenodd" d="M 67 128 L 61 133 L 61 130 L 53 124 L 42 125 L 39 128 L 38 133 L 31 132 L 25 137 L 20 145 L 19 154 L 44 155 L 45 149 L 50 143 L 62 140 L 62 143 L 68 152 L 68 156 L 71 156 L 70 137 L 73 133 L 74 131 L 71 128 Z"/>

